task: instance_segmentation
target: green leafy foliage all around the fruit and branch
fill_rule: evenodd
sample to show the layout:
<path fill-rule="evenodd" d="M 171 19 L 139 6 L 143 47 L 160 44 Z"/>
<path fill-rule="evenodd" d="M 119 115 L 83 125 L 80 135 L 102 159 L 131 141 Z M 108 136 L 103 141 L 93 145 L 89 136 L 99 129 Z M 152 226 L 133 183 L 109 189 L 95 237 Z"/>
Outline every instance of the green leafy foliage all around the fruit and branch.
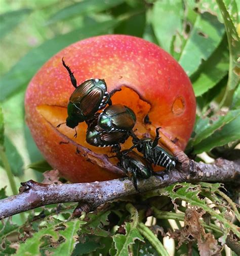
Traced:
<path fill-rule="evenodd" d="M 133 35 L 173 55 L 190 77 L 197 100 L 197 118 L 186 153 L 197 154 L 196 161 L 206 161 L 204 155 L 240 158 L 238 1 L 2 0 L 0 6 L 0 187 L 7 185 L 0 190 L 2 198 L 5 193 L 17 194 L 21 181 L 41 181 L 42 172 L 51 170 L 24 122 L 24 92 L 29 80 L 59 50 L 91 36 Z M 150 207 L 156 225 L 166 231 L 172 229 L 168 219 L 175 219 L 178 227 L 184 219 L 186 208 L 181 207 L 181 200 L 209 214 L 210 222 L 201 223 L 216 239 L 221 237 L 224 243 L 229 230 L 239 238 L 237 220 L 229 221 L 224 213 L 232 211 L 236 217 L 239 214 L 230 194 L 222 193 L 220 184 L 181 184 L 178 193 L 176 187 L 175 193 L 173 189 L 157 190 L 142 199 L 163 199 L 157 206 L 149 201 L 143 203 L 145 208 L 116 202 L 100 213 L 88 214 L 87 219 L 82 216 L 66 221 L 74 209 L 74 205 L 68 204 L 61 206 L 60 213 L 56 206 L 48 206 L 16 215 L 0 225 L 0 255 L 9 255 L 16 248 L 17 255 L 45 255 L 46 251 L 59 255 L 126 255 L 128 250 L 134 255 L 168 255 L 161 233 L 156 237 L 154 225 L 143 225 L 143 209 Z M 199 196 L 205 200 L 199 200 Z M 170 201 L 165 209 L 166 197 L 177 200 L 181 212 L 175 212 Z M 220 214 L 207 204 L 207 199 L 218 202 Z M 216 222 L 221 223 L 221 229 Z M 122 225 L 125 235 L 116 234 Z M 20 245 L 15 241 L 17 247 L 11 247 L 12 242 L 7 239 L 13 233 L 21 241 Z M 199 241 L 192 246 L 193 255 L 198 255 Z M 186 244 L 175 249 L 176 255 L 186 252 Z"/>

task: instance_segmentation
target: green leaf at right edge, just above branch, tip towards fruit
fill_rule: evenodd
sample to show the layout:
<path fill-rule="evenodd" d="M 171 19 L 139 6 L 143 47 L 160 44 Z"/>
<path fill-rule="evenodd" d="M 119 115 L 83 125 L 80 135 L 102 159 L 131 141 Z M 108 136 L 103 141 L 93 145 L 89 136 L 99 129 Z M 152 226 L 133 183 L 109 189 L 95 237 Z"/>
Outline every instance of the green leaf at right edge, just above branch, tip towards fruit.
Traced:
<path fill-rule="evenodd" d="M 216 131 L 211 137 L 194 146 L 194 154 L 208 152 L 214 147 L 223 146 L 240 138 L 240 116 L 227 123 L 222 129 Z"/>

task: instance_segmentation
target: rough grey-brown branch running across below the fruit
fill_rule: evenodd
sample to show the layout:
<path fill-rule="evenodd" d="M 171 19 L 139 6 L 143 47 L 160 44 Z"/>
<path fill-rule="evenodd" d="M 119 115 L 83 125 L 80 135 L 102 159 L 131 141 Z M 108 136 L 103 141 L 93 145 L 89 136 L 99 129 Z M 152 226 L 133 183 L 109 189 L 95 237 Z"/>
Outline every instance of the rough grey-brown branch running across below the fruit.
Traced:
<path fill-rule="evenodd" d="M 221 158 L 214 164 L 190 160 L 188 171 L 175 169 L 160 174 L 147 180 L 139 180 L 139 190 L 147 191 L 184 181 L 230 182 L 240 185 L 240 163 Z M 22 183 L 19 191 L 16 196 L 0 200 L 0 219 L 40 206 L 66 202 L 81 202 L 80 206 L 91 211 L 105 202 L 138 193 L 132 181 L 125 178 L 72 184 L 42 184 L 29 180 Z"/>

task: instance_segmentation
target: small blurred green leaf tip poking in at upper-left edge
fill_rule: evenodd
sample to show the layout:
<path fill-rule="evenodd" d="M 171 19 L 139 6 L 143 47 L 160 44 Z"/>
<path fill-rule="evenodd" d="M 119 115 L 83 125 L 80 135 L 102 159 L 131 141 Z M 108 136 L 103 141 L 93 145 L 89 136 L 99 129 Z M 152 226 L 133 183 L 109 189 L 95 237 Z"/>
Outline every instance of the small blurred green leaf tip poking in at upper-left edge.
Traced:
<path fill-rule="evenodd" d="M 0 38 L 2 39 L 31 12 L 31 9 L 20 9 L 0 15 Z"/>

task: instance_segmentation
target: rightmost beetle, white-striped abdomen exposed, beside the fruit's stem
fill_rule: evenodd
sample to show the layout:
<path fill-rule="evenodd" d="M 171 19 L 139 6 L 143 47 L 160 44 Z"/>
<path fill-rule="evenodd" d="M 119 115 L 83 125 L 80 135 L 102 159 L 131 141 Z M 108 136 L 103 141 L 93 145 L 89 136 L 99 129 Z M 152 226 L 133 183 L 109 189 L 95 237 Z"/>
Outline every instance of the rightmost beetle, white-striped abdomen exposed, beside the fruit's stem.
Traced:
<path fill-rule="evenodd" d="M 168 153 L 164 148 L 158 146 L 159 129 L 156 129 L 156 137 L 154 140 L 150 138 L 139 139 L 133 132 L 131 133 L 133 137 L 133 146 L 129 149 L 137 148 L 137 150 L 143 154 L 144 158 L 155 166 L 162 166 L 166 168 L 167 171 L 173 169 L 176 166 L 177 159 L 170 153 Z"/>

